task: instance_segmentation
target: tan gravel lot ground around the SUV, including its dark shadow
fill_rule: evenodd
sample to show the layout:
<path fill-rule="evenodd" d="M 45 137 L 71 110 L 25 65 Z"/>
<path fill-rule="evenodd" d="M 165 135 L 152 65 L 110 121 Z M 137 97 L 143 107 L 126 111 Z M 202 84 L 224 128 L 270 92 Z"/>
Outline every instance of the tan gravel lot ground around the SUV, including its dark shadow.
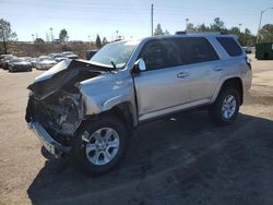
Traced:
<path fill-rule="evenodd" d="M 140 126 L 121 166 L 90 178 L 45 159 L 24 121 L 26 86 L 43 73 L 0 70 L 0 204 L 273 204 L 273 61 L 233 125 L 190 111 Z"/>

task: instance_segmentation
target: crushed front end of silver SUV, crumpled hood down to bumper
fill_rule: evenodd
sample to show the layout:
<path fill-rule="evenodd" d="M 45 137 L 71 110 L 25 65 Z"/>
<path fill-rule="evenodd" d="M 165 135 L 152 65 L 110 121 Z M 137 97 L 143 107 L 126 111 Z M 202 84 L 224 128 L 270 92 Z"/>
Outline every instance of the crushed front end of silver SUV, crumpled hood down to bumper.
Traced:
<path fill-rule="evenodd" d="M 104 72 L 85 61 L 66 60 L 27 87 L 31 92 L 25 120 L 55 156 L 70 152 L 70 142 L 84 118 L 79 83 Z"/>

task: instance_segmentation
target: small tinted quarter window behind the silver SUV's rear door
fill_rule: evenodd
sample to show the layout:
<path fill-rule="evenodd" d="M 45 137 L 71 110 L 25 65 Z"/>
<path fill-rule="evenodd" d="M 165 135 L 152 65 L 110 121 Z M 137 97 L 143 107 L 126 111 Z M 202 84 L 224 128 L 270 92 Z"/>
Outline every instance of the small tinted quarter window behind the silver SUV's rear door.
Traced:
<path fill-rule="evenodd" d="M 238 45 L 238 43 L 235 41 L 234 38 L 217 37 L 216 39 L 224 47 L 224 49 L 230 57 L 238 57 L 242 55 L 240 46 Z"/>

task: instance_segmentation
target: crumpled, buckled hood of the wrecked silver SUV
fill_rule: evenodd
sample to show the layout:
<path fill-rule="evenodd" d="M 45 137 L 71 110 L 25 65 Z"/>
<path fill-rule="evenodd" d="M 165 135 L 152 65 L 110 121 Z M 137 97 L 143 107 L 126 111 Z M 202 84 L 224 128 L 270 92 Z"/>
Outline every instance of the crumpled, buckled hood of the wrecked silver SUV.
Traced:
<path fill-rule="evenodd" d="M 27 88 L 37 99 L 44 99 L 51 94 L 66 89 L 78 92 L 80 82 L 96 77 L 108 69 L 81 60 L 63 60 L 35 79 Z"/>

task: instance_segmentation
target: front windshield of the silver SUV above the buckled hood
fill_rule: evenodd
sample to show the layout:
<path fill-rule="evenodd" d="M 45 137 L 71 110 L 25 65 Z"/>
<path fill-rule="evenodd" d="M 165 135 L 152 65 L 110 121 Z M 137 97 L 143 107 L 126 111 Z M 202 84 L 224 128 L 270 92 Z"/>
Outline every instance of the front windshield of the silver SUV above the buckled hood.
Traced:
<path fill-rule="evenodd" d="M 92 57 L 91 62 L 121 69 L 126 65 L 132 52 L 139 45 L 139 41 L 119 41 L 104 46 L 98 52 Z"/>

